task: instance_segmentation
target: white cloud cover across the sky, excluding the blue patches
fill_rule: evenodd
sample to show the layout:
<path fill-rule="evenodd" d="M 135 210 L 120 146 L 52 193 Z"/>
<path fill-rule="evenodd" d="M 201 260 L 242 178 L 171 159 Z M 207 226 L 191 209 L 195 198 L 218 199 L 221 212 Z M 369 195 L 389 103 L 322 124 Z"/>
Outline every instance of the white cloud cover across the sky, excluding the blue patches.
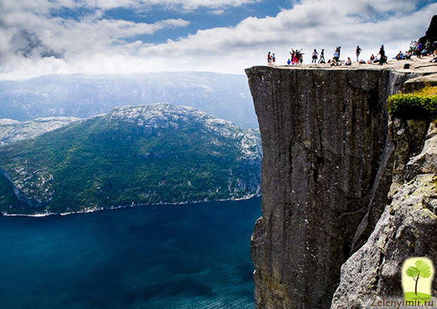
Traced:
<path fill-rule="evenodd" d="M 63 1 L 68 4 L 68 0 Z M 216 5 L 247 3 L 244 0 L 161 2 L 178 2 L 185 8 L 196 8 L 202 4 L 214 9 L 213 2 Z M 29 6 L 32 3 L 28 1 Z M 94 3 L 103 6 L 99 0 L 94 0 Z M 106 5 L 134 6 L 138 3 L 134 0 L 111 0 Z M 246 18 L 235 27 L 198 30 L 195 34 L 168 40 L 164 44 L 127 43 L 124 39 L 164 27 L 183 27 L 187 21 L 176 19 L 140 24 L 101 19 L 98 12 L 77 21 L 44 18 L 18 10 L 6 16 L 5 22 L 10 25 L 6 29 L 9 30 L 2 32 L 0 26 L 0 55 L 8 55 L 7 60 L 3 58 L 4 63 L 0 62 L 0 78 L 70 72 L 112 74 L 163 70 L 242 73 L 243 68 L 264 64 L 267 51 L 276 53 L 278 63 L 285 63 L 290 47 L 303 48 L 308 59 L 314 48 L 324 48 L 326 58 L 329 58 L 335 46 L 340 45 L 342 58 L 352 58 L 357 45 L 363 49 L 362 56 L 368 57 L 377 53 L 378 46 L 384 44 L 388 55 L 394 56 L 400 49 L 406 49 L 411 39 L 418 39 L 424 34 L 437 11 L 436 3 L 420 10 L 417 9 L 418 4 L 417 0 L 303 0 L 274 17 Z M 19 29 L 20 25 L 28 25 L 35 30 L 42 45 L 37 51 L 44 48 L 46 52 L 59 51 L 63 53 L 63 58 L 23 58 L 11 53 L 8 48 L 5 50 L 3 43 L 8 46 L 14 35 L 11 27 Z"/>

